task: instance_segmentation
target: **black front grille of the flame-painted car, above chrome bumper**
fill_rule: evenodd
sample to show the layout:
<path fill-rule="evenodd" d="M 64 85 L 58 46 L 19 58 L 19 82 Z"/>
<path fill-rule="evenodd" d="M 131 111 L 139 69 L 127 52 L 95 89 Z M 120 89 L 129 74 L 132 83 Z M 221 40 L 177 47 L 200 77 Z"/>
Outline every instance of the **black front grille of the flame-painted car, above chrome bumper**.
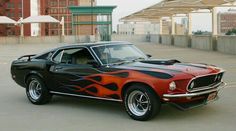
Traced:
<path fill-rule="evenodd" d="M 210 88 L 211 86 L 218 84 L 222 81 L 223 74 L 224 73 L 219 73 L 214 75 L 197 77 L 189 83 L 188 90 L 194 91 L 202 88 Z"/>

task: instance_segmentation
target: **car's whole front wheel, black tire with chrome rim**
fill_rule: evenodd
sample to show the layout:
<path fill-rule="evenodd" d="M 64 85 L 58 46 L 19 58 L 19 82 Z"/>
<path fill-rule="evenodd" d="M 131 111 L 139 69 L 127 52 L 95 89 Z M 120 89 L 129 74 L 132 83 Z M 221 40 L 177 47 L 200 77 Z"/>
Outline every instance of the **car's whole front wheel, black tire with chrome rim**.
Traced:
<path fill-rule="evenodd" d="M 125 93 L 124 105 L 128 115 L 138 121 L 146 121 L 156 116 L 161 107 L 159 97 L 149 87 L 136 84 Z"/>

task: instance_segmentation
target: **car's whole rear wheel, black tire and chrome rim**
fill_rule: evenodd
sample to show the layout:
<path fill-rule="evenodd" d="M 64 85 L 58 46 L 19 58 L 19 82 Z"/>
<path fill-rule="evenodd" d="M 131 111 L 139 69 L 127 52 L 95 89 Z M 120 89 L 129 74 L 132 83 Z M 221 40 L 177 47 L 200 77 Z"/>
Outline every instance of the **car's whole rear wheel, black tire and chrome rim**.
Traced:
<path fill-rule="evenodd" d="M 46 104 L 52 98 L 44 82 L 37 76 L 30 76 L 28 78 L 26 95 L 29 101 L 35 105 Z"/>

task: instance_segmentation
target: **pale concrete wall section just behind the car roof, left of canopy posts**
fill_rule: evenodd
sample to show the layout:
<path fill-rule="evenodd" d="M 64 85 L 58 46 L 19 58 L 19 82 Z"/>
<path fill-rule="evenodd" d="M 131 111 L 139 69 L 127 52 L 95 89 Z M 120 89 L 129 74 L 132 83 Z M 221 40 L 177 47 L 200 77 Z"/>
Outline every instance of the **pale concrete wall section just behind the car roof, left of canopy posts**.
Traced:
<path fill-rule="evenodd" d="M 112 35 L 112 41 L 147 42 L 147 35 Z"/>

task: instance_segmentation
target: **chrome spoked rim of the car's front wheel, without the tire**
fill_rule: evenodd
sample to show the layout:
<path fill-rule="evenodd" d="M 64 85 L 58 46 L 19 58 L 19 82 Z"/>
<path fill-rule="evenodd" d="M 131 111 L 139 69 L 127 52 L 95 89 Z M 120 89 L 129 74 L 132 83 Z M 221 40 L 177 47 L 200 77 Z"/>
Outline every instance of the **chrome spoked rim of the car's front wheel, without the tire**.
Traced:
<path fill-rule="evenodd" d="M 128 96 L 128 107 L 136 116 L 145 115 L 148 111 L 149 105 L 149 97 L 141 91 L 135 90 Z"/>

